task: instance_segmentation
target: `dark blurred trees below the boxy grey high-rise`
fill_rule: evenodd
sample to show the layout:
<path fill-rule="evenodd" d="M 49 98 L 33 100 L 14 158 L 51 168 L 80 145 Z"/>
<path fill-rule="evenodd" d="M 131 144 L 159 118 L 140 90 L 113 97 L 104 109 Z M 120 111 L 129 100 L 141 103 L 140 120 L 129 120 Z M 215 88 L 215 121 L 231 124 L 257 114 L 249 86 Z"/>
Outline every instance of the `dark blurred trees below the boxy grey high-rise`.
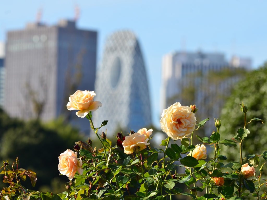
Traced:
<path fill-rule="evenodd" d="M 81 139 L 79 130 L 65 124 L 63 118 L 49 123 L 39 120 L 25 122 L 10 118 L 0 108 L 0 159 L 9 159 L 12 165 L 18 157 L 19 168 L 36 172 L 35 188 L 30 181 L 26 182 L 29 189 L 54 193 L 66 190 L 64 185 L 68 178 L 59 176 L 58 156 L 66 149 L 72 149 Z M 4 184 L 1 181 L 0 186 Z"/>

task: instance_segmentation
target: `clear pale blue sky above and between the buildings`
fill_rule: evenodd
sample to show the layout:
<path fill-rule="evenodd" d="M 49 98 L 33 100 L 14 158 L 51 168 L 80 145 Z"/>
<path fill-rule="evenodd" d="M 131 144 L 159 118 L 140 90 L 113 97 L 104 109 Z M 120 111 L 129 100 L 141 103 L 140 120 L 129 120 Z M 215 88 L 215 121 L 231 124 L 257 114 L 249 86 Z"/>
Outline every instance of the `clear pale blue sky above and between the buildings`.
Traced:
<path fill-rule="evenodd" d="M 220 52 L 250 57 L 256 68 L 267 60 L 267 1 L 155 1 L 155 0 L 0 0 L 0 41 L 7 30 L 22 29 L 36 20 L 48 25 L 61 18 L 74 18 L 80 7 L 78 28 L 99 33 L 98 60 L 105 38 L 121 29 L 132 30 L 139 38 L 152 102 L 152 120 L 159 126 L 161 61 L 166 53 L 187 51 Z"/>

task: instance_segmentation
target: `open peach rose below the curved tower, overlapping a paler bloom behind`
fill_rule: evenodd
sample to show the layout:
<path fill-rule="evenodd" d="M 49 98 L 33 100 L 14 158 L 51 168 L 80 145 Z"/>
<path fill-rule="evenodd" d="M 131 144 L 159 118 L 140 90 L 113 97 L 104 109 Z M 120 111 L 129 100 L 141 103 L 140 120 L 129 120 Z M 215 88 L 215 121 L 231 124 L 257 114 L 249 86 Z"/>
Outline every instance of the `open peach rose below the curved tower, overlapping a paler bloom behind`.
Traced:
<path fill-rule="evenodd" d="M 145 149 L 150 143 L 148 142 L 148 138 L 145 135 L 139 135 L 139 133 L 135 133 L 125 137 L 125 140 L 122 143 L 125 154 L 132 154 L 134 150 L 141 151 Z"/>

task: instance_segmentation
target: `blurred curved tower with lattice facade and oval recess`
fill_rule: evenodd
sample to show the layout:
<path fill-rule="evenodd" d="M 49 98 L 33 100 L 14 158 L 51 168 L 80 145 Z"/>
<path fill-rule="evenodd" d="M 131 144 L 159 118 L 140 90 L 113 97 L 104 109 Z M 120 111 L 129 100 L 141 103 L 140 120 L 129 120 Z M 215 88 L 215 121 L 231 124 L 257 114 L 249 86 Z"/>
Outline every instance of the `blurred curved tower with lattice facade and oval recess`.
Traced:
<path fill-rule="evenodd" d="M 108 133 L 119 128 L 138 131 L 151 125 L 146 69 L 132 32 L 118 31 L 107 38 L 97 71 L 96 99 L 103 106 L 93 113 L 93 121 L 100 125 L 108 120 L 104 127 Z"/>

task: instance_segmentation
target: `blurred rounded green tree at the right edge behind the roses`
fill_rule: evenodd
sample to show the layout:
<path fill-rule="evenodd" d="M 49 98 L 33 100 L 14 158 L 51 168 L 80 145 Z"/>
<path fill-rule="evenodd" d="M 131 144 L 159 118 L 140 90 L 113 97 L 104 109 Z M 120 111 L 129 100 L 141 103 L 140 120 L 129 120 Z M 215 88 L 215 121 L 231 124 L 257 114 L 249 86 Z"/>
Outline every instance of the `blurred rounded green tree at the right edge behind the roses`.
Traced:
<path fill-rule="evenodd" d="M 244 127 L 244 113 L 241 112 L 239 105 L 242 101 L 248 107 L 248 122 L 254 117 L 267 120 L 267 62 L 258 70 L 247 74 L 244 80 L 234 86 L 234 91 L 222 109 L 220 117 L 222 140 L 233 138 L 237 130 Z M 242 145 L 243 158 L 248 154 L 260 155 L 267 151 L 266 123 L 261 124 L 260 121 L 252 121 L 247 128 L 250 130 L 250 134 Z M 220 147 L 222 148 L 221 154 L 231 159 L 229 161 L 234 161 L 237 155 L 239 156 L 239 145 L 238 147 L 231 147 L 231 151 L 223 145 Z M 244 162 L 247 160 L 245 159 Z"/>

